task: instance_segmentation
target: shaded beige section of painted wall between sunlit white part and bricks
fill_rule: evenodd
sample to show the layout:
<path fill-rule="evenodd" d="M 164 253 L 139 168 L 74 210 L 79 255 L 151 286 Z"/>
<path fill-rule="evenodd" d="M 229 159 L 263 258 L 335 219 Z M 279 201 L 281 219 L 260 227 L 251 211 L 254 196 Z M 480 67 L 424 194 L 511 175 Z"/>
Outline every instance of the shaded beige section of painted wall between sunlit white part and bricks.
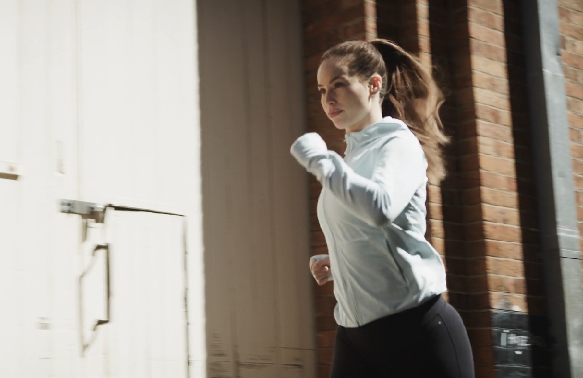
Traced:
<path fill-rule="evenodd" d="M 314 377 L 300 2 L 198 17 L 209 377 Z"/>

